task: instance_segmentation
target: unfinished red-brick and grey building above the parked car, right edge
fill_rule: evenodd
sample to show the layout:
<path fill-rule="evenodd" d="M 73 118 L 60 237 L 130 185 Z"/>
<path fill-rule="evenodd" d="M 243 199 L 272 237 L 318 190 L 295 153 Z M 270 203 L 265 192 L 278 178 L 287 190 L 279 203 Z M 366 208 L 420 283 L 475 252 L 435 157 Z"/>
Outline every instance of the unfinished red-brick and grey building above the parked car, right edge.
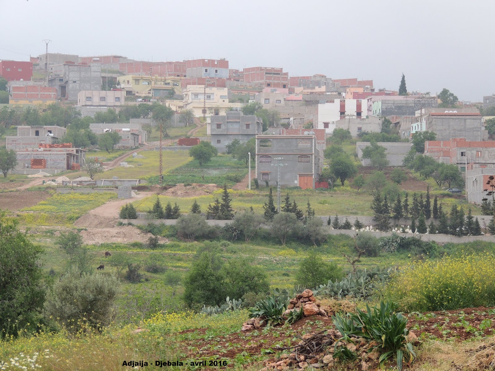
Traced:
<path fill-rule="evenodd" d="M 495 166 L 495 141 L 472 141 L 465 138 L 425 141 L 425 155 L 445 164 L 456 164 L 461 172 L 466 164 Z"/>

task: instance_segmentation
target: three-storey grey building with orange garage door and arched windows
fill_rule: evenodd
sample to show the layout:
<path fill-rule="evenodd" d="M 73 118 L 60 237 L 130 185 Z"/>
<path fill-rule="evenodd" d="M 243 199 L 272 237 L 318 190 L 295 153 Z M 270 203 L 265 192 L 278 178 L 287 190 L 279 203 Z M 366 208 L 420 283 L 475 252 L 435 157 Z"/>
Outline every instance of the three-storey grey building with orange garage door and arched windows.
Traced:
<path fill-rule="evenodd" d="M 314 188 L 319 180 L 321 163 L 312 135 L 256 136 L 256 178 L 263 185 L 277 185 L 277 158 L 280 164 L 280 185 L 302 189 Z"/>

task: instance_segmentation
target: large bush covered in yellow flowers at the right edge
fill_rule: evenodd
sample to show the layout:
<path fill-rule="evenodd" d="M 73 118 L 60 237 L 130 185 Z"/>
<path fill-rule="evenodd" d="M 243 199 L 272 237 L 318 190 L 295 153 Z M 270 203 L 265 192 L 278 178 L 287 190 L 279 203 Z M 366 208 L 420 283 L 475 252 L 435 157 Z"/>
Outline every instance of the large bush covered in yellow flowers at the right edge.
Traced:
<path fill-rule="evenodd" d="M 394 275 L 384 295 L 407 311 L 493 307 L 494 264 L 489 253 L 417 261 Z"/>

